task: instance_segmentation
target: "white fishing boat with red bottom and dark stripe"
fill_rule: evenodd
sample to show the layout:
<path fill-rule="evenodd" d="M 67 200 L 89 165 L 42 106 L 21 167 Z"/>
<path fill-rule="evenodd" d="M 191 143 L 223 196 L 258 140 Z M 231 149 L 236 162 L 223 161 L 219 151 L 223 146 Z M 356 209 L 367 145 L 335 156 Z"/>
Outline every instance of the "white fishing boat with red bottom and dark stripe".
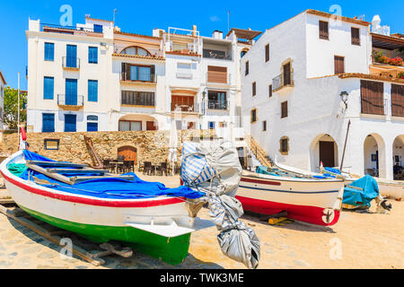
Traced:
<path fill-rule="evenodd" d="M 285 212 L 296 221 L 330 226 L 338 222 L 343 194 L 340 178 L 259 167 L 243 170 L 236 198 L 253 213 Z"/>

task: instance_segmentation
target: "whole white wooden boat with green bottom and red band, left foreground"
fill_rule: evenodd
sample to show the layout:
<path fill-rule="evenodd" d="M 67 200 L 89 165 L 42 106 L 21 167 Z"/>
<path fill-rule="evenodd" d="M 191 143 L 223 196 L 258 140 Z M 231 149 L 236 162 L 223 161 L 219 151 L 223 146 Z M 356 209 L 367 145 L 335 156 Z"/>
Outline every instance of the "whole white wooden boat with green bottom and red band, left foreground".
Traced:
<path fill-rule="evenodd" d="M 0 171 L 13 200 L 27 213 L 95 242 L 123 241 L 172 265 L 187 257 L 190 234 L 198 228 L 194 220 L 201 207 L 194 206 L 191 199 L 169 195 L 111 196 L 108 192 L 84 190 L 85 182 L 105 185 L 111 178 L 115 178 L 113 185 L 136 185 L 131 181 L 136 175 L 117 178 L 108 170 L 92 170 L 80 164 L 27 161 L 25 152 L 16 152 L 4 160 Z M 27 166 L 28 178 L 11 172 L 13 164 Z"/>

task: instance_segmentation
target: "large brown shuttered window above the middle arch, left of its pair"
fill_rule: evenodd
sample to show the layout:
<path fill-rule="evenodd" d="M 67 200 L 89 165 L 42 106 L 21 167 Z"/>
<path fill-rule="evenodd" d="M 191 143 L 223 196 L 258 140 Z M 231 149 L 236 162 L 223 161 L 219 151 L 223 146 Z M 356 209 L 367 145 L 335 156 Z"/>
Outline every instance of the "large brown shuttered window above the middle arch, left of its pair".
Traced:
<path fill-rule="evenodd" d="M 384 86 L 382 82 L 361 80 L 361 112 L 384 115 Z"/>

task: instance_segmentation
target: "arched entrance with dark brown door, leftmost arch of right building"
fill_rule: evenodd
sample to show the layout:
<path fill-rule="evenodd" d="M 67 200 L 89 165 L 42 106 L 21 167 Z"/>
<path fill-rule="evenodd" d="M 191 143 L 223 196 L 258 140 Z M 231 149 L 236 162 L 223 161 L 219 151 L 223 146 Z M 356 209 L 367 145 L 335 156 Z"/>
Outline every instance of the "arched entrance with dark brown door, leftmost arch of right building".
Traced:
<path fill-rule="evenodd" d="M 317 135 L 310 145 L 311 170 L 319 172 L 321 162 L 324 167 L 338 166 L 338 144 L 330 135 Z"/>

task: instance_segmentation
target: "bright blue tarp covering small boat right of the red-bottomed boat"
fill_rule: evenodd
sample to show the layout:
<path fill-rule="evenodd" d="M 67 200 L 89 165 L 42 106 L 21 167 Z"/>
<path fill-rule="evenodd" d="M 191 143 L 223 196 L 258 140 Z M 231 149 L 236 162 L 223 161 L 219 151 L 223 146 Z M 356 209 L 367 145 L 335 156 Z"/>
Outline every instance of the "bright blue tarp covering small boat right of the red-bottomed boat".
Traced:
<path fill-rule="evenodd" d="M 352 204 L 356 206 L 366 205 L 370 207 L 371 201 L 379 196 L 377 181 L 369 175 L 354 181 L 349 186 L 360 187 L 363 190 L 345 187 L 344 199 L 342 201 L 343 204 Z"/>

